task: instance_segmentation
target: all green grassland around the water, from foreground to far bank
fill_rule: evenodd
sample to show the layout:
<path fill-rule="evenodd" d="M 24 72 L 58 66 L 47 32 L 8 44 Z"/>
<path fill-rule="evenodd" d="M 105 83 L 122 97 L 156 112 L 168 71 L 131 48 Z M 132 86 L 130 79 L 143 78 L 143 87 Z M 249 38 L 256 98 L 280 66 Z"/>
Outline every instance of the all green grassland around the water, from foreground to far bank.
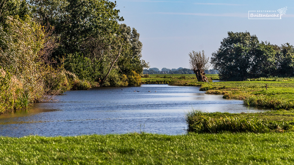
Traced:
<path fill-rule="evenodd" d="M 167 78 L 168 77 L 168 78 Z M 209 77 L 209 76 L 208 76 Z M 144 132 L 69 137 L 1 137 L 1 164 L 292 164 L 293 78 L 197 82 L 194 75 L 150 75 L 144 82 L 200 86 L 208 94 L 270 108 L 259 113 L 186 113 L 186 135 Z M 217 75 L 212 76 L 218 80 Z"/>

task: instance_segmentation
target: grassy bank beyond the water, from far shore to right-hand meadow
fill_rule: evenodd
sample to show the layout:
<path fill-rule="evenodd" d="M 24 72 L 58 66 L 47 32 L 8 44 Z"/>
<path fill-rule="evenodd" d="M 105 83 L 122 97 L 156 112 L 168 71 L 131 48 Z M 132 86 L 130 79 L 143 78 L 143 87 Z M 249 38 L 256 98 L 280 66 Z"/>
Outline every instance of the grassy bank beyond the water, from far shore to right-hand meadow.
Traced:
<path fill-rule="evenodd" d="M 195 76 L 149 75 L 141 78 L 143 84 L 169 84 L 172 86 L 201 86 L 207 94 L 221 94 L 223 98 L 242 100 L 246 106 L 273 109 L 294 108 L 293 78 L 260 78 L 248 81 L 220 81 L 218 75 L 207 75 L 210 84 L 198 82 Z"/>

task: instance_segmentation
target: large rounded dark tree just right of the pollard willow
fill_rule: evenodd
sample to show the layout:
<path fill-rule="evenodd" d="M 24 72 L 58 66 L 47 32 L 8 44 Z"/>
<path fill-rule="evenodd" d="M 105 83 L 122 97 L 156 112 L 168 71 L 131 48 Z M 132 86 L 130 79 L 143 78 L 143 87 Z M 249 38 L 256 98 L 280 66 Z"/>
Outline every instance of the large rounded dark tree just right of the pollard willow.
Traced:
<path fill-rule="evenodd" d="M 220 48 L 211 57 L 213 68 L 223 80 L 244 80 L 250 75 L 250 67 L 259 45 L 256 35 L 249 32 L 228 32 L 220 42 Z"/>

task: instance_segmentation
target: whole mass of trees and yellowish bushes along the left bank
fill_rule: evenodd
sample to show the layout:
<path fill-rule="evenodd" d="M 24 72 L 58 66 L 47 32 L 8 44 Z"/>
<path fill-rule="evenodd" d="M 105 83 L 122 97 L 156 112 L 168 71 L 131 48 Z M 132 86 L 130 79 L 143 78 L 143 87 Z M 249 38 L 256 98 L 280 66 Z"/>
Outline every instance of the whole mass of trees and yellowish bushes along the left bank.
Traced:
<path fill-rule="evenodd" d="M 69 89 L 139 86 L 142 43 L 108 0 L 0 1 L 0 113 Z"/>

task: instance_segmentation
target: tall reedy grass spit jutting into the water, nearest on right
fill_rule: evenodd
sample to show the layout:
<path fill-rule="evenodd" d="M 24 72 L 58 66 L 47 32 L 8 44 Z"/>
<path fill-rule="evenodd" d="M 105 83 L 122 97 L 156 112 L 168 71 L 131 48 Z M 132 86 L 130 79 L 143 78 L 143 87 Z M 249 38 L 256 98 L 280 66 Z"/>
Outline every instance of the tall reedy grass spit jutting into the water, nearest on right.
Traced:
<path fill-rule="evenodd" d="M 186 113 L 188 131 L 192 132 L 293 132 L 294 113 L 291 110 L 264 113 L 205 113 L 191 110 Z"/>

